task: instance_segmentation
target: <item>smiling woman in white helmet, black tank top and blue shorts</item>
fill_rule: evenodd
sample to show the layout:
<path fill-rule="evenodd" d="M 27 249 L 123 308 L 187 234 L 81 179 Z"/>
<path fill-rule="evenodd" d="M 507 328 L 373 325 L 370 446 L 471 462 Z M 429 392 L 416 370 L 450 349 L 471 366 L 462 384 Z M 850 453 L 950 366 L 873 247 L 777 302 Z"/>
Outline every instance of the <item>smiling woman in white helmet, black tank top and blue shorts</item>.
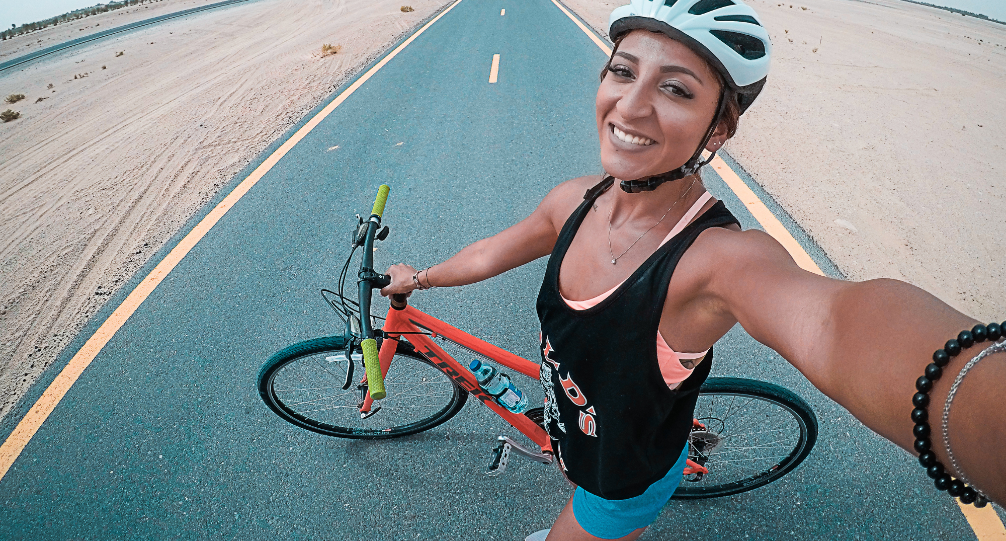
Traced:
<path fill-rule="evenodd" d="M 610 27 L 597 98 L 607 174 L 557 186 L 526 219 L 445 262 L 391 266 L 381 292 L 463 286 L 550 255 L 537 303 L 545 425 L 577 489 L 551 531 L 528 539 L 643 532 L 681 481 L 695 391 L 713 343 L 737 322 L 867 426 L 935 454 L 923 462 L 944 485 L 964 473 L 978 484 L 968 490 L 1006 501 L 1006 461 L 995 453 L 1006 436 L 982 428 L 1002 423 L 1003 392 L 987 382 L 1006 375 L 1003 353 L 957 389 L 956 463 L 944 445 L 930 453 L 925 410 L 908 416 L 933 351 L 976 322 L 907 284 L 807 273 L 771 236 L 741 231 L 703 188 L 701 151 L 733 135 L 768 73 L 753 10 L 739 0 L 633 0 Z M 988 334 L 998 339 L 999 327 Z M 944 363 L 954 374 L 983 349 L 963 342 L 962 359 Z M 930 375 L 926 397 L 942 407 L 953 378 Z"/>

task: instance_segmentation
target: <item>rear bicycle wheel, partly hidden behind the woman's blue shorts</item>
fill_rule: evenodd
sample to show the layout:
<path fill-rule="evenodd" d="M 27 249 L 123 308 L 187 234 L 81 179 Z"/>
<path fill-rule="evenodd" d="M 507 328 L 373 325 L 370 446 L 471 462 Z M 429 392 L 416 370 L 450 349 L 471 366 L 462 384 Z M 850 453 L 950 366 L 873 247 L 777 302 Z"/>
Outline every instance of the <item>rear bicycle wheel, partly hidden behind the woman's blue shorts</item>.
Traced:
<path fill-rule="evenodd" d="M 685 476 L 672 498 L 730 496 L 792 472 L 817 441 L 817 416 L 792 391 L 753 379 L 709 378 L 699 389 L 688 458 L 709 470 Z"/>

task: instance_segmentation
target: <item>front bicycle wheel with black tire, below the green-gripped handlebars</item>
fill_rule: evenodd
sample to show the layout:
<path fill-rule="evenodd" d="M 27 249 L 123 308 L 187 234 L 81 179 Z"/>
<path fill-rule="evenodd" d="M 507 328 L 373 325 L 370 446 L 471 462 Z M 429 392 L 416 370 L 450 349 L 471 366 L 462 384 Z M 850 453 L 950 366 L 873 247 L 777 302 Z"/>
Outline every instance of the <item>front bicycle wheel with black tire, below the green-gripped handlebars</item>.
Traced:
<path fill-rule="evenodd" d="M 273 355 L 259 371 L 259 394 L 277 415 L 326 435 L 379 439 L 408 435 L 456 415 L 468 392 L 412 349 L 398 342 L 384 388 L 369 414 L 360 414 L 366 392 L 360 352 L 346 351 L 346 339 L 327 336 L 299 342 Z M 355 362 L 348 389 L 348 363 Z"/>

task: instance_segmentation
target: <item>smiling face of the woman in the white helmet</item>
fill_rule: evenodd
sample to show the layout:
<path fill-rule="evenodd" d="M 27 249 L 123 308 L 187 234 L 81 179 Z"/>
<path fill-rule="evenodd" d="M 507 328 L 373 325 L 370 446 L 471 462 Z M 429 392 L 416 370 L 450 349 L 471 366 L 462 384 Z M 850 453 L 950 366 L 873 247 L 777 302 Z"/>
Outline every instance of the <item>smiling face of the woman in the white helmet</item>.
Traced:
<path fill-rule="evenodd" d="M 664 34 L 634 30 L 618 45 L 598 88 L 601 163 L 635 180 L 685 164 L 716 113 L 720 83 L 700 56 Z M 708 150 L 719 148 L 717 129 Z"/>

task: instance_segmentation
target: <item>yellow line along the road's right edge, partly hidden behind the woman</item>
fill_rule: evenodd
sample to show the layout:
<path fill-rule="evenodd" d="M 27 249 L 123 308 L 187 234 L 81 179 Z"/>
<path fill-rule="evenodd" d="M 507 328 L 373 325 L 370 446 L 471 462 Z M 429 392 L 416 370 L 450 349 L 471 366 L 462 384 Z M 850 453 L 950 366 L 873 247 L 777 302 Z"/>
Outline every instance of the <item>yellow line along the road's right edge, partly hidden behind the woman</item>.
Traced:
<path fill-rule="evenodd" d="M 572 13 L 559 4 L 556 0 L 552 0 L 555 7 L 562 10 L 572 22 L 579 26 L 579 29 L 585 33 L 592 41 L 597 43 L 601 50 L 605 51 L 605 54 L 611 56 L 612 48 L 609 47 L 601 38 L 598 37 L 593 31 L 583 26 L 583 23 L 579 22 L 579 19 L 574 17 Z M 719 174 L 720 178 L 726 182 L 726 185 L 733 190 L 740 202 L 744 204 L 747 210 L 754 216 L 754 219 L 762 224 L 766 232 L 772 235 L 776 240 L 778 240 L 786 250 L 790 252 L 797 264 L 806 270 L 815 273 L 817 275 L 825 276 L 821 272 L 821 267 L 814 262 L 814 259 L 804 250 L 804 247 L 797 242 L 790 231 L 779 221 L 779 218 L 769 210 L 769 207 L 765 206 L 765 203 L 758 198 L 758 195 L 751 191 L 750 188 L 744 184 L 744 181 L 740 179 L 740 176 L 736 174 L 726 162 L 722 160 L 719 156 L 710 163 L 712 168 Z M 992 509 L 992 506 L 986 506 L 982 509 L 978 509 L 970 505 L 962 505 L 958 502 L 961 508 L 961 512 L 964 513 L 964 517 L 968 519 L 968 524 L 971 525 L 971 529 L 975 531 L 975 536 L 978 537 L 979 541 L 1006 541 L 1006 526 L 1003 525 L 1002 520 L 999 519 L 999 515 Z"/>

